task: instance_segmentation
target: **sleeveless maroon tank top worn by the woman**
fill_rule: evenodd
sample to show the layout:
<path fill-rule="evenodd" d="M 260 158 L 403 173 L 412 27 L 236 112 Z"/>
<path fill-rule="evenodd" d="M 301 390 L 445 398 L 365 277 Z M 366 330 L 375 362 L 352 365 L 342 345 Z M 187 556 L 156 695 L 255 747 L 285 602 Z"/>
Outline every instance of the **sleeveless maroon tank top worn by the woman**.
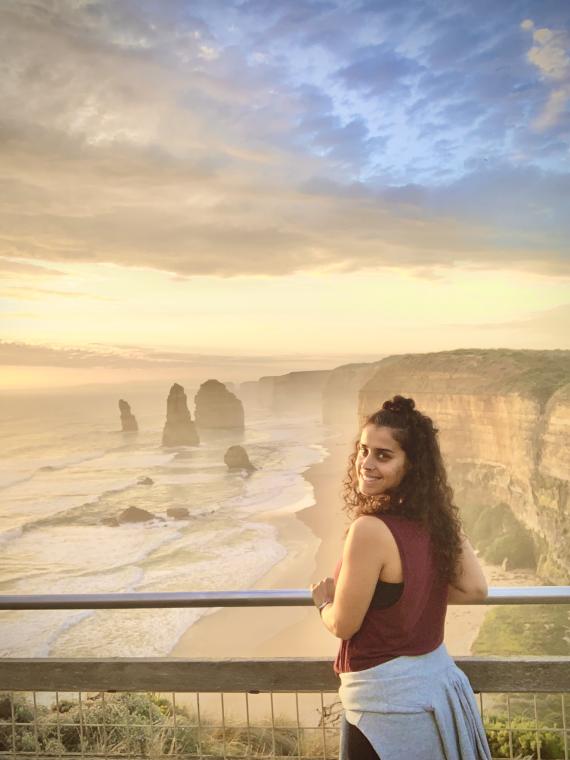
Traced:
<path fill-rule="evenodd" d="M 376 515 L 388 526 L 400 552 L 404 589 L 384 609 L 368 608 L 360 629 L 342 641 L 336 673 L 364 670 L 402 655 L 426 654 L 443 641 L 447 580 L 437 572 L 428 529 L 401 515 Z M 338 563 L 334 579 L 340 573 Z"/>

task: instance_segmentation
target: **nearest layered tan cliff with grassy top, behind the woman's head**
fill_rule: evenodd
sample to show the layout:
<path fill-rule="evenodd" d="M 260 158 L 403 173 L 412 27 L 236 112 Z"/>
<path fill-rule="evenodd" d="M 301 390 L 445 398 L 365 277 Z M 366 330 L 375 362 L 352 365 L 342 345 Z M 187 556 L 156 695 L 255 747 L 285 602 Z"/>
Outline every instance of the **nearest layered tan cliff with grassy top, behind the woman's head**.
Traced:
<path fill-rule="evenodd" d="M 359 417 L 399 393 L 440 430 L 456 501 L 507 504 L 530 530 L 539 574 L 570 578 L 570 352 L 392 356 L 359 394 Z"/>

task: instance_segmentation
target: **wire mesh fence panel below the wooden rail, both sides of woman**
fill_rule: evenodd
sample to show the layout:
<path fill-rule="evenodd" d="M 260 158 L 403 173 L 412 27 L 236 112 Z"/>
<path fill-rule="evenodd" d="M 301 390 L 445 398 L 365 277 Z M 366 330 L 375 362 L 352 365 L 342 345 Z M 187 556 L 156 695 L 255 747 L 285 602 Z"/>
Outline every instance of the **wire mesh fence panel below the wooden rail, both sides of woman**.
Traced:
<path fill-rule="evenodd" d="M 568 760 L 569 694 L 478 699 L 493 758 Z M 331 760 L 341 716 L 336 692 L 3 692 L 0 757 Z"/>

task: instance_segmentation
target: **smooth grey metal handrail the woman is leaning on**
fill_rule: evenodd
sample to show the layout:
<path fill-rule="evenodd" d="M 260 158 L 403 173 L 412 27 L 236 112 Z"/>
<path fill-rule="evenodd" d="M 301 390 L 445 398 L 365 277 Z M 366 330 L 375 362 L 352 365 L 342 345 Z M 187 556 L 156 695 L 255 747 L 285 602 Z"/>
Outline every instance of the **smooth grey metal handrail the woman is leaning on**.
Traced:
<path fill-rule="evenodd" d="M 95 610 L 156 607 L 309 607 L 304 589 L 189 591 L 154 594 L 40 594 L 0 596 L 0 610 Z M 493 587 L 472 604 L 570 604 L 570 586 Z"/>

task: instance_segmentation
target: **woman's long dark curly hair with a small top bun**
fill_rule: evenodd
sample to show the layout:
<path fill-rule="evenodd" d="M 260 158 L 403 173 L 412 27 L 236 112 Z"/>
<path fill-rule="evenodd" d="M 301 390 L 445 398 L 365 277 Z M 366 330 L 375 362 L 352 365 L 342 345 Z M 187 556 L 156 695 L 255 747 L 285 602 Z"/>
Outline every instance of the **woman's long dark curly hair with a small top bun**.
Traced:
<path fill-rule="evenodd" d="M 344 510 L 351 519 L 391 512 L 425 524 L 430 532 L 437 567 L 449 582 L 456 579 L 461 552 L 461 521 L 432 420 L 415 408 L 411 398 L 394 396 L 368 417 L 362 426 L 388 427 L 404 450 L 411 467 L 391 493 L 365 496 L 358 490 L 356 457 L 360 436 L 348 460 L 344 480 Z"/>

